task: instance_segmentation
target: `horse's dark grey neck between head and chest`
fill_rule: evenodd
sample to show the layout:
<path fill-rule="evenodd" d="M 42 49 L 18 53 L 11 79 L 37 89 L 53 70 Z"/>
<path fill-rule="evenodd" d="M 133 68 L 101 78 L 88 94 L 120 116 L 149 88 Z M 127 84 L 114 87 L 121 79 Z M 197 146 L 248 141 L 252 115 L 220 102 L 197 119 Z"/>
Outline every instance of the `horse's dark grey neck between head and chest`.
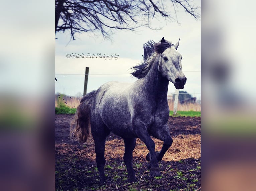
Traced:
<path fill-rule="evenodd" d="M 144 77 L 143 85 L 144 91 L 159 100 L 167 98 L 169 81 L 158 72 L 158 62 L 152 64 L 150 71 Z"/>

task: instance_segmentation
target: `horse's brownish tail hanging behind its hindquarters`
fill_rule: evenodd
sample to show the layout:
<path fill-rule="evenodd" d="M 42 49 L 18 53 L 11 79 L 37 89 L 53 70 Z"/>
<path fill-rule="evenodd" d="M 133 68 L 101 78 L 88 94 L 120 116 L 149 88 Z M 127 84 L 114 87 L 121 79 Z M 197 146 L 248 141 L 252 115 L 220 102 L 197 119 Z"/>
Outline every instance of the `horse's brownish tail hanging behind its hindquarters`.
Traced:
<path fill-rule="evenodd" d="M 70 123 L 70 139 L 86 141 L 91 132 L 90 113 L 92 98 L 95 91 L 86 94 L 77 107 L 75 118 Z"/>

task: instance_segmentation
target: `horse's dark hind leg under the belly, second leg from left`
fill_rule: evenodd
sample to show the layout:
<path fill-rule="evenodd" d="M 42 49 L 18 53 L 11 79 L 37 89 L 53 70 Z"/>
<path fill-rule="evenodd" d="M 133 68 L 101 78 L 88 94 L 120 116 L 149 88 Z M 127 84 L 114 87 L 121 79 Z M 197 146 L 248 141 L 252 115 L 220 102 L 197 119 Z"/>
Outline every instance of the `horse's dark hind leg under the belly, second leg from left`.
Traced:
<path fill-rule="evenodd" d="M 124 138 L 125 152 L 124 152 L 124 163 L 127 168 L 128 182 L 135 182 L 135 172 L 132 167 L 132 152 L 135 148 L 136 138 Z"/>

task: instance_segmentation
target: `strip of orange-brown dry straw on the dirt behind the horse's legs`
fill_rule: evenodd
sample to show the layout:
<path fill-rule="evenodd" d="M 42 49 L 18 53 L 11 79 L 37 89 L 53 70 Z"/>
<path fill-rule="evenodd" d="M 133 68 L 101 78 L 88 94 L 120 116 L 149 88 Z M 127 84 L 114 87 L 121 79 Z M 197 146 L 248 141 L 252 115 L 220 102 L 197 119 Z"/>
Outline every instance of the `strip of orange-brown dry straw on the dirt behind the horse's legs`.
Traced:
<path fill-rule="evenodd" d="M 163 142 L 153 138 L 155 142 L 155 150 L 160 151 Z M 91 137 L 91 141 L 85 143 L 86 149 L 83 150 L 83 154 L 88 155 L 90 158 L 95 158 L 96 154 L 88 152 L 88 150 L 94 150 L 94 141 Z M 173 137 L 173 144 L 168 149 L 163 157 L 165 161 L 179 161 L 188 158 L 198 159 L 201 156 L 201 135 L 178 135 Z M 148 149 L 146 145 L 137 139 L 136 147 L 133 151 L 133 158 L 137 161 L 145 161 Z M 124 155 L 124 141 L 123 139 L 114 139 L 106 141 L 105 146 L 105 158 L 106 160 L 113 158 L 123 158 Z"/>

